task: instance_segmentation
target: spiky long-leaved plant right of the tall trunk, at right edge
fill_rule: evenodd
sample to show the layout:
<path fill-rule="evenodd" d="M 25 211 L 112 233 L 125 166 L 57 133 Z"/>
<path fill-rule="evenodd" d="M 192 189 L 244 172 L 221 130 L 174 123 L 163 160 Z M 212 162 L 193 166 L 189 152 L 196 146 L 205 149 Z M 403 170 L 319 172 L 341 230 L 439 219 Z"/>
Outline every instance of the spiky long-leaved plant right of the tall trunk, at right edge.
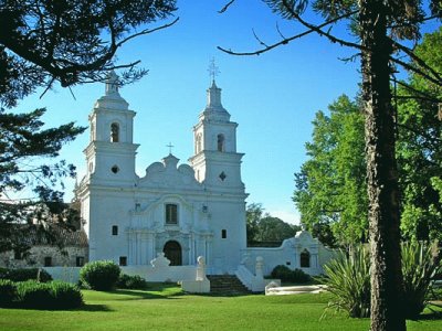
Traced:
<path fill-rule="evenodd" d="M 406 318 L 415 319 L 429 303 L 427 297 L 431 289 L 431 281 L 440 269 L 436 245 L 415 242 L 402 245 Z"/>

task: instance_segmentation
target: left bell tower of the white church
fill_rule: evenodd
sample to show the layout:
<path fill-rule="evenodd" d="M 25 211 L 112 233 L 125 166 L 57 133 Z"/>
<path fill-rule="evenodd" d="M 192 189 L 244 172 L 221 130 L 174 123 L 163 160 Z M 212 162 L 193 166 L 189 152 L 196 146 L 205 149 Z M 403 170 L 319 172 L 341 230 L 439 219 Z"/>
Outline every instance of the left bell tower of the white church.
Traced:
<path fill-rule="evenodd" d="M 118 76 L 110 72 L 105 95 L 88 117 L 91 138 L 84 150 L 87 179 L 93 183 L 131 185 L 138 145 L 133 143 L 135 111 L 118 93 Z"/>

